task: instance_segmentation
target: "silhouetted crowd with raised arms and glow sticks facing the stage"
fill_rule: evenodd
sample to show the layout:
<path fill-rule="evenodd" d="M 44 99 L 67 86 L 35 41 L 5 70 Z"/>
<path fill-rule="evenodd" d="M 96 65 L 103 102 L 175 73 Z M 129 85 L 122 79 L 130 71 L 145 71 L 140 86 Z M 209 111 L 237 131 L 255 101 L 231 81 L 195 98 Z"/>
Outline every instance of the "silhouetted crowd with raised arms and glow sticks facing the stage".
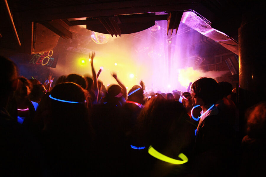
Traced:
<path fill-rule="evenodd" d="M 260 176 L 265 172 L 266 102 L 246 112 L 236 93 L 200 78 L 187 92 L 128 92 L 69 74 L 53 83 L 19 77 L 0 57 L 0 176 Z M 244 119 L 241 117 L 241 119 Z M 244 126 L 244 125 L 243 125 Z"/>

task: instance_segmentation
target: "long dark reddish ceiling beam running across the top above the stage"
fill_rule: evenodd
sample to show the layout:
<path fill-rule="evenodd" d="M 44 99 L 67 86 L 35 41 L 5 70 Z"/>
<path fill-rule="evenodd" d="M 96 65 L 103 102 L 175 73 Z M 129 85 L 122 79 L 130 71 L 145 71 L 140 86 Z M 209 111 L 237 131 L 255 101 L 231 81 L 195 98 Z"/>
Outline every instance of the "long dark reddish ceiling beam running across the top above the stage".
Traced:
<path fill-rule="evenodd" d="M 199 0 L 148 0 L 120 1 L 111 3 L 83 4 L 54 8 L 38 8 L 19 12 L 29 21 L 40 22 L 54 19 L 70 19 L 81 17 L 106 17 L 125 14 L 150 12 L 183 11 L 200 6 Z"/>

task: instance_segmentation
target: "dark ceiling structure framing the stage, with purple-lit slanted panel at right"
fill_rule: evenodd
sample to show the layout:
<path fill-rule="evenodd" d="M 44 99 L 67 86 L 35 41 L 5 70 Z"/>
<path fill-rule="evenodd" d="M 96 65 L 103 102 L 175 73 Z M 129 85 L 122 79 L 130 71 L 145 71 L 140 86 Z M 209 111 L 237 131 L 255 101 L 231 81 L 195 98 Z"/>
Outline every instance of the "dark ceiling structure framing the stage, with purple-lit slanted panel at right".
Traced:
<path fill-rule="evenodd" d="M 156 20 L 168 20 L 168 34 L 181 21 L 238 54 L 237 0 L 3 0 L 0 15 L 0 47 L 29 54 L 55 47 L 59 36 L 72 38 L 71 26 L 117 36 L 145 30 Z"/>

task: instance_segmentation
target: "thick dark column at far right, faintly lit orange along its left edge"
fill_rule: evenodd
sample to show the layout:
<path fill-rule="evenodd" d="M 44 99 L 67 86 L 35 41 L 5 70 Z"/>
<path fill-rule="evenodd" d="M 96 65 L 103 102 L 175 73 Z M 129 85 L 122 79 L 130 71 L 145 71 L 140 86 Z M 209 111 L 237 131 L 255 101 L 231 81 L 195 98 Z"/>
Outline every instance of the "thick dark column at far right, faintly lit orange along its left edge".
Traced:
<path fill-rule="evenodd" d="M 255 7 L 254 4 L 259 5 Z M 238 30 L 239 120 L 242 135 L 245 135 L 246 109 L 266 100 L 265 9 L 262 9 L 265 6 L 262 4 L 252 1 L 244 5 Z"/>

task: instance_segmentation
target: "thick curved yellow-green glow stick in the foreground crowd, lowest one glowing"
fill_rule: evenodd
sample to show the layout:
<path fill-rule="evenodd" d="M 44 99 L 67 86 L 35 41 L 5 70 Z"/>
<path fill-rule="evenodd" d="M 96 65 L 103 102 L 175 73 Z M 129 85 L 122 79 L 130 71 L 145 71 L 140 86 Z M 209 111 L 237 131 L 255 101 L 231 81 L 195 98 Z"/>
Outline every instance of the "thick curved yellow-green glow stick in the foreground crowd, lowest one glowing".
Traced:
<path fill-rule="evenodd" d="M 159 153 L 157 150 L 155 150 L 151 145 L 148 149 L 148 153 L 159 159 L 159 160 L 162 160 L 162 161 L 165 161 L 165 162 L 168 162 L 168 163 L 173 163 L 173 164 L 183 164 L 183 163 L 186 163 L 188 161 L 188 158 L 186 157 L 186 155 L 184 155 L 183 153 L 180 153 L 178 155 L 179 158 L 181 158 L 182 160 L 176 160 L 176 159 L 173 159 L 173 158 L 170 158 L 170 157 L 167 157 L 166 155 L 163 155 L 161 153 Z"/>

